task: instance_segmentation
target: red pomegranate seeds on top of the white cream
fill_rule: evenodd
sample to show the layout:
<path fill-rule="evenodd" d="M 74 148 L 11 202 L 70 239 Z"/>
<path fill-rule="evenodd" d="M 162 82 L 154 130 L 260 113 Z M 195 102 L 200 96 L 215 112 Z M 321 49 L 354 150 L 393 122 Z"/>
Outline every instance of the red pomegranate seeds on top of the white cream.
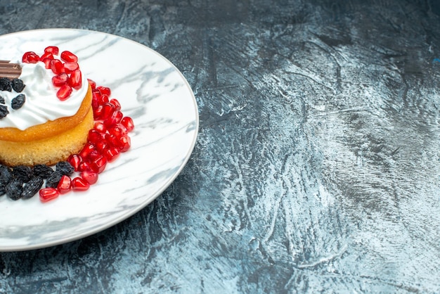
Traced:
<path fill-rule="evenodd" d="M 65 101 L 72 94 L 73 89 L 79 89 L 82 86 L 82 74 L 79 70 L 78 58 L 70 51 L 61 52 L 57 46 L 48 46 L 44 53 L 38 56 L 33 51 L 23 54 L 23 63 L 37 63 L 42 61 L 47 70 L 52 70 L 55 74 L 52 78 L 54 87 L 59 88 L 56 96 L 61 101 Z"/>

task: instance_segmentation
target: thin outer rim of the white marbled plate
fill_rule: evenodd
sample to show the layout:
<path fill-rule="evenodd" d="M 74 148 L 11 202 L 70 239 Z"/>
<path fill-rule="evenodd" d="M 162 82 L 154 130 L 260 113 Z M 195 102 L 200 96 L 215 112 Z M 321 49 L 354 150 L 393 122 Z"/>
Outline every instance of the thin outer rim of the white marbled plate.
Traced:
<path fill-rule="evenodd" d="M 65 243 L 70 243 L 72 241 L 78 241 L 82 238 L 86 238 L 88 236 L 92 236 L 94 234 L 97 234 L 101 231 L 105 231 L 106 229 L 109 229 L 112 226 L 115 226 L 116 224 L 119 224 L 120 222 L 123 222 L 126 219 L 129 219 L 129 217 L 132 217 L 133 215 L 136 215 L 137 212 L 143 210 L 143 208 L 147 207 L 150 203 L 152 203 L 157 197 L 159 197 L 173 182 L 174 180 L 181 174 L 181 171 L 184 167 L 186 167 L 186 164 L 188 163 L 188 160 L 190 160 L 190 156 L 194 151 L 195 143 L 198 139 L 198 133 L 199 133 L 199 127 L 200 127 L 200 117 L 199 117 L 199 109 L 198 109 L 198 103 L 195 99 L 195 94 L 193 89 L 190 87 L 190 84 L 188 83 L 188 80 L 186 77 L 182 74 L 182 72 L 172 63 L 168 58 L 162 56 L 161 53 L 155 51 L 154 49 L 139 43 L 138 41 L 134 41 L 132 39 L 128 39 L 127 37 L 118 36 L 116 34 L 110 34 L 108 32 L 100 32 L 97 30 L 86 30 L 86 29 L 77 29 L 77 28 L 67 28 L 67 27 L 53 27 L 53 28 L 42 28 L 42 29 L 33 29 L 33 30 L 22 30 L 22 31 L 16 31 L 16 32 L 10 32 L 7 34 L 1 34 L 0 38 L 2 37 L 8 37 L 12 36 L 14 34 L 22 34 L 22 33 L 32 33 L 32 32 L 44 32 L 44 31 L 69 31 L 69 32 L 86 32 L 86 33 L 93 33 L 93 34 L 104 34 L 108 35 L 113 38 L 117 39 L 123 39 L 124 41 L 128 41 L 129 43 L 136 44 L 136 46 L 142 46 L 143 49 L 146 49 L 150 51 L 151 53 L 154 53 L 159 58 L 162 58 L 166 63 L 170 65 L 171 68 L 174 68 L 176 73 L 181 77 L 181 80 L 188 90 L 191 101 L 193 102 L 193 108 L 195 113 L 195 126 L 194 126 L 194 132 L 193 137 L 190 142 L 190 147 L 186 151 L 186 155 L 184 160 L 181 162 L 181 165 L 176 170 L 176 172 L 172 175 L 172 177 L 169 177 L 167 181 L 162 184 L 162 186 L 155 192 L 150 195 L 148 195 L 148 198 L 141 202 L 140 205 L 137 205 L 134 209 L 128 210 L 126 213 L 119 215 L 119 217 L 116 217 L 115 219 L 112 219 L 110 222 L 106 222 L 105 224 L 101 226 L 97 226 L 94 229 L 91 229 L 89 231 L 82 232 L 80 234 L 73 234 L 72 236 L 67 236 L 65 238 L 60 238 L 54 241 L 47 241 L 42 243 L 36 243 L 32 245 L 6 245 L 3 246 L 0 244 L 0 253 L 4 252 L 19 252 L 19 251 L 27 251 L 27 250 L 37 250 L 37 249 L 43 249 L 43 248 L 49 248 L 56 245 L 62 245 Z"/>

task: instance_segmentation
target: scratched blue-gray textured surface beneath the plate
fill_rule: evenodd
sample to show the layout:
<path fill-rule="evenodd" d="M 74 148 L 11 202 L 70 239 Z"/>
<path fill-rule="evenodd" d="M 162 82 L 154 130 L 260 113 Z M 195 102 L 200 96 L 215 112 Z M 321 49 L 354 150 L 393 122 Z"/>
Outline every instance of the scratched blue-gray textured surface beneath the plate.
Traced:
<path fill-rule="evenodd" d="M 439 1 L 16 2 L 0 34 L 98 30 L 167 57 L 200 134 L 134 217 L 1 253 L 0 292 L 440 292 Z"/>

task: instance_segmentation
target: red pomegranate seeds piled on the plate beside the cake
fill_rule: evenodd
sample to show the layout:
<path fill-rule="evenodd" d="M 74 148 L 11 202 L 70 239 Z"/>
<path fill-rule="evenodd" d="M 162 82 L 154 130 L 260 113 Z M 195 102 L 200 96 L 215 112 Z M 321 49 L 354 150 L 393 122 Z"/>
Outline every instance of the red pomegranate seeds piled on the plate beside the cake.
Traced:
<path fill-rule="evenodd" d="M 57 198 L 69 191 L 86 191 L 98 181 L 98 174 L 105 170 L 108 162 L 118 158 L 120 153 L 129 150 L 134 123 L 131 117 L 124 116 L 121 105 L 115 98 L 110 99 L 110 88 L 96 87 L 89 79 L 92 89 L 92 110 L 95 120 L 89 131 L 88 141 L 82 151 L 72 154 L 67 162 L 72 165 L 77 176 L 63 175 L 56 188 L 42 188 L 39 191 L 41 202 Z"/>

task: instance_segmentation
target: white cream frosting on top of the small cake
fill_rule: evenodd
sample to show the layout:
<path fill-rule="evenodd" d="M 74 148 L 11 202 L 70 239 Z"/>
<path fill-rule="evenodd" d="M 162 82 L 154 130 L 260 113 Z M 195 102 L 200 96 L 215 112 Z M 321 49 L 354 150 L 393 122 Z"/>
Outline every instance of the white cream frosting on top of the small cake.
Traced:
<path fill-rule="evenodd" d="M 0 96 L 5 99 L 8 115 L 0 119 L 0 127 L 15 127 L 25 130 L 37 124 L 44 124 L 49 120 L 75 115 L 86 96 L 89 82 L 82 75 L 82 87 L 73 89 L 72 94 L 65 101 L 60 101 L 56 96 L 58 88 L 52 84 L 54 76 L 51 70 L 44 67 L 44 63 L 20 63 L 22 73 L 20 79 L 26 85 L 21 93 L 14 90 L 0 91 Z M 11 101 L 18 94 L 25 94 L 25 104 L 18 110 L 11 108 Z"/>

